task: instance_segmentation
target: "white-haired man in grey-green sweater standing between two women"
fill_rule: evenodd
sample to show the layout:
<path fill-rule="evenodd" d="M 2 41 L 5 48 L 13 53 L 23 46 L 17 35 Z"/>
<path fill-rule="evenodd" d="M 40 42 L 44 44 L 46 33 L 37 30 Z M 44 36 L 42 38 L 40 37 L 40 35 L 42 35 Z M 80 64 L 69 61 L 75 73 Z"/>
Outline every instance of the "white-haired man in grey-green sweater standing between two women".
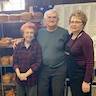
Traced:
<path fill-rule="evenodd" d="M 37 39 L 42 48 L 43 62 L 38 80 L 38 96 L 64 96 L 66 62 L 65 44 L 67 30 L 58 26 L 59 17 L 54 9 L 44 14 L 45 28 L 38 31 Z M 50 90 L 50 91 L 49 91 Z"/>

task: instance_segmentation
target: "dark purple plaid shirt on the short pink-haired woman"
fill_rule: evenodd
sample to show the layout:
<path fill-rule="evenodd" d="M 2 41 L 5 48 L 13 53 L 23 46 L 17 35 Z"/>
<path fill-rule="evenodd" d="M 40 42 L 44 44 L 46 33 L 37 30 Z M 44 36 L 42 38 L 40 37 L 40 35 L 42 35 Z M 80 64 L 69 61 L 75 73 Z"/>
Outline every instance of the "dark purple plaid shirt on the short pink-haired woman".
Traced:
<path fill-rule="evenodd" d="M 14 69 L 19 68 L 21 73 L 27 72 L 30 68 L 33 74 L 28 76 L 26 81 L 20 81 L 17 77 L 17 83 L 21 85 L 33 86 L 37 83 L 37 73 L 42 61 L 41 47 L 37 40 L 32 40 L 30 47 L 27 49 L 24 42 L 17 45 L 13 54 Z"/>

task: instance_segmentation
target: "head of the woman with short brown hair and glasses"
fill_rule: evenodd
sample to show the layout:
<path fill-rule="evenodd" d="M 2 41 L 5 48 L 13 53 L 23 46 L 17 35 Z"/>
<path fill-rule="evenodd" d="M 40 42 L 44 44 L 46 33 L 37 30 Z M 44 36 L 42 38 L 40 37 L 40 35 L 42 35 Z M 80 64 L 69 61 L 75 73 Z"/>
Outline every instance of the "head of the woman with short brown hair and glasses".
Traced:
<path fill-rule="evenodd" d="M 69 27 L 72 33 L 82 31 L 86 23 L 87 16 L 81 10 L 74 11 L 69 17 Z"/>

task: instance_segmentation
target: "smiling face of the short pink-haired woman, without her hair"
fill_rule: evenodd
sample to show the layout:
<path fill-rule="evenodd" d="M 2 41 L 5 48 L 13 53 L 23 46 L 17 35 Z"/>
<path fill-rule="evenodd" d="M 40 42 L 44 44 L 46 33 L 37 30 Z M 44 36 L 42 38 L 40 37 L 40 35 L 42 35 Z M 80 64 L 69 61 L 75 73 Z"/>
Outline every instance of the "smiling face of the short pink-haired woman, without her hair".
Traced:
<path fill-rule="evenodd" d="M 32 28 L 26 28 L 24 31 L 23 31 L 23 37 L 25 39 L 26 42 L 31 42 L 32 39 L 34 38 L 34 29 Z"/>

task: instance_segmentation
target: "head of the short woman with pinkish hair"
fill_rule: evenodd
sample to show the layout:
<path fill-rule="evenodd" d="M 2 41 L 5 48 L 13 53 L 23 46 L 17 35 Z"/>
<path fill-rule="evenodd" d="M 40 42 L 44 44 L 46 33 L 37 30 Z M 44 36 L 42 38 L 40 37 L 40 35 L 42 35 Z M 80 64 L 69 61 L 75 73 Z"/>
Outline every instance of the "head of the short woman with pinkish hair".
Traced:
<path fill-rule="evenodd" d="M 36 25 L 34 23 L 27 22 L 21 26 L 21 32 L 23 33 L 24 40 L 31 42 L 36 32 Z"/>

